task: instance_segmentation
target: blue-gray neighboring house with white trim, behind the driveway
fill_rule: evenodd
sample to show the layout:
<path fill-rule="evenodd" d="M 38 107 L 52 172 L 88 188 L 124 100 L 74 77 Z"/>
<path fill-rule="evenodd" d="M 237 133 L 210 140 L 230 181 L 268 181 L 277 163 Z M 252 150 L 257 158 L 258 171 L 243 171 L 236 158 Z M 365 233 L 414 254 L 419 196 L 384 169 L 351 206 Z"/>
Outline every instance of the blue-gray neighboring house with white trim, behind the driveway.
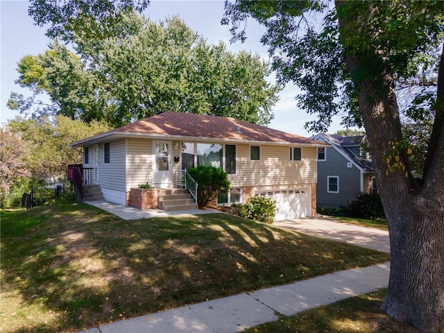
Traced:
<path fill-rule="evenodd" d="M 363 138 L 330 134 L 311 137 L 331 145 L 318 148 L 318 207 L 346 207 L 359 192 L 376 191 L 370 155 L 361 151 Z"/>

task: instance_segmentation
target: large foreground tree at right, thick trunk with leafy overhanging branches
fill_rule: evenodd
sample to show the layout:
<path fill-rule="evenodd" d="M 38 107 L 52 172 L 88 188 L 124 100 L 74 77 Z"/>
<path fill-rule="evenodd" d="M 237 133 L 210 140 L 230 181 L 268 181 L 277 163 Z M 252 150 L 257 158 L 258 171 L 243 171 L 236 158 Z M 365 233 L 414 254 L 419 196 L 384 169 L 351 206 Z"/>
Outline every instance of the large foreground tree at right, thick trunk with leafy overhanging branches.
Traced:
<path fill-rule="evenodd" d="M 325 15 L 323 26 L 307 16 Z M 422 182 L 413 177 L 411 147 L 402 135 L 395 84 L 413 77 L 419 56 L 443 37 L 441 1 L 235 1 L 225 2 L 224 24 L 244 39 L 240 24 L 253 17 L 266 26 L 262 42 L 275 56 L 283 83 L 304 90 L 299 105 L 321 132 L 333 114 L 364 124 L 378 192 L 391 239 L 391 273 L 383 308 L 425 332 L 444 328 L 444 53 Z M 417 62 L 418 64 L 419 62 Z"/>

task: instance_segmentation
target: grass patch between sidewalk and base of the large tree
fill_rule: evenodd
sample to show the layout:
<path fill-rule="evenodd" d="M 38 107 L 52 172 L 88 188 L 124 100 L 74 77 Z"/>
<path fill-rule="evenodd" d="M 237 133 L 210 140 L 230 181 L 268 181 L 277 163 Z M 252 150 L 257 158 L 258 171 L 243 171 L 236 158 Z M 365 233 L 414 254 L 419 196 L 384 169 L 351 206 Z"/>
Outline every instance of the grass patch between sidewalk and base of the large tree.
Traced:
<path fill-rule="evenodd" d="M 388 317 L 381 305 L 386 289 L 331 305 L 316 307 L 296 316 L 265 323 L 246 333 L 419 333 L 415 327 Z"/>

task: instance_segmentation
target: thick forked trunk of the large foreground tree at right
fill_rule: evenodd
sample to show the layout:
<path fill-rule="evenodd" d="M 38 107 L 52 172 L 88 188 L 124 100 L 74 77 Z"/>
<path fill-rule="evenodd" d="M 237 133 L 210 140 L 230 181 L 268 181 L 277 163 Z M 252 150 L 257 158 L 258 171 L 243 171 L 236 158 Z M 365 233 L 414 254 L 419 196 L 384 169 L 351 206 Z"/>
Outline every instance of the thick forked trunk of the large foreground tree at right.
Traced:
<path fill-rule="evenodd" d="M 337 1 L 338 6 L 343 2 Z M 339 17 L 341 35 L 348 32 L 352 19 Z M 402 133 L 394 80 L 383 56 L 378 50 L 370 54 L 345 49 L 345 58 L 352 77 L 368 75 L 354 83 L 390 233 L 391 271 L 383 309 L 424 332 L 444 332 L 443 122 L 435 123 L 438 137 L 433 139 L 432 160 L 423 184 L 416 185 L 407 147 L 398 145 Z M 438 95 L 444 87 L 441 71 Z M 397 149 L 391 151 L 393 144 Z M 398 158 L 402 164 L 396 164 Z"/>

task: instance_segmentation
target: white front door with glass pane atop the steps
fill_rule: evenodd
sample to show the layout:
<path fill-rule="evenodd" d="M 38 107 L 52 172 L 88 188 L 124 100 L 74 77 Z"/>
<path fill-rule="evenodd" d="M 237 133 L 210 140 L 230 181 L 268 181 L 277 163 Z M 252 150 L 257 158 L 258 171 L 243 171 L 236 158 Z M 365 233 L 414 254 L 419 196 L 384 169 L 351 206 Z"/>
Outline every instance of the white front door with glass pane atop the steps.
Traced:
<path fill-rule="evenodd" d="M 153 141 L 153 185 L 171 187 L 171 142 Z"/>

